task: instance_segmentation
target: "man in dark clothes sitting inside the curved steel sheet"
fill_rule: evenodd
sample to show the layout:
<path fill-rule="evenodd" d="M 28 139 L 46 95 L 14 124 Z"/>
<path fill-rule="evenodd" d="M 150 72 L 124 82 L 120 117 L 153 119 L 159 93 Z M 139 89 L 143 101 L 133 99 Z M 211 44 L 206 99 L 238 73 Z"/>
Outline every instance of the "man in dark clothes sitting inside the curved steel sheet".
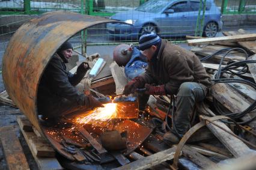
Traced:
<path fill-rule="evenodd" d="M 75 86 L 85 76 L 89 65 L 82 62 L 75 74 L 67 71 L 65 64 L 69 62 L 72 53 L 72 44 L 66 41 L 54 53 L 44 70 L 37 95 L 37 109 L 42 120 L 55 123 L 62 115 L 102 106 L 93 96 L 86 96 L 76 89 Z"/>

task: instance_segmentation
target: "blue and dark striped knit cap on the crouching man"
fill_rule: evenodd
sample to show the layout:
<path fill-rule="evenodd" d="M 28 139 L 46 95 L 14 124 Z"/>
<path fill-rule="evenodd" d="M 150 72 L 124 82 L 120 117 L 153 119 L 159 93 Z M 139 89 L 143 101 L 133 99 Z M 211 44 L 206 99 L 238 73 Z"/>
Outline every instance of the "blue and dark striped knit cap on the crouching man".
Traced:
<path fill-rule="evenodd" d="M 139 38 L 139 49 L 145 50 L 160 42 L 160 37 L 154 32 L 147 32 Z"/>

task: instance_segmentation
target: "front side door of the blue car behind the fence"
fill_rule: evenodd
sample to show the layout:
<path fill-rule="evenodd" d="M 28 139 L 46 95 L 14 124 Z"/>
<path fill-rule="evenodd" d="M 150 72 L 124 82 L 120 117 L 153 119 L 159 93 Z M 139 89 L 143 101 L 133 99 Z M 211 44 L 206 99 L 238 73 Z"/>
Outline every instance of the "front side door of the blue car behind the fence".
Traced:
<path fill-rule="evenodd" d="M 166 13 L 168 11 L 171 13 Z M 161 32 L 164 35 L 183 35 L 187 32 L 187 11 L 189 10 L 188 1 L 176 1 L 169 5 L 163 13 L 161 20 Z M 163 35 L 162 34 L 162 35 Z"/>

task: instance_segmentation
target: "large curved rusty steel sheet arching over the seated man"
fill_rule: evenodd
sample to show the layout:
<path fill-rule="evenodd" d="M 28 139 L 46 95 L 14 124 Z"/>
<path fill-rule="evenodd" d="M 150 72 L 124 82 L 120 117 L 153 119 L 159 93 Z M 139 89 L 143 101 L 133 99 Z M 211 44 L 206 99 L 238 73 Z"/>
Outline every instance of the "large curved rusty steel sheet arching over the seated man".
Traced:
<path fill-rule="evenodd" d="M 118 21 L 53 11 L 23 24 L 11 37 L 2 61 L 4 85 L 13 102 L 41 134 L 37 89 L 44 68 L 61 44 L 77 32 L 107 22 Z"/>

